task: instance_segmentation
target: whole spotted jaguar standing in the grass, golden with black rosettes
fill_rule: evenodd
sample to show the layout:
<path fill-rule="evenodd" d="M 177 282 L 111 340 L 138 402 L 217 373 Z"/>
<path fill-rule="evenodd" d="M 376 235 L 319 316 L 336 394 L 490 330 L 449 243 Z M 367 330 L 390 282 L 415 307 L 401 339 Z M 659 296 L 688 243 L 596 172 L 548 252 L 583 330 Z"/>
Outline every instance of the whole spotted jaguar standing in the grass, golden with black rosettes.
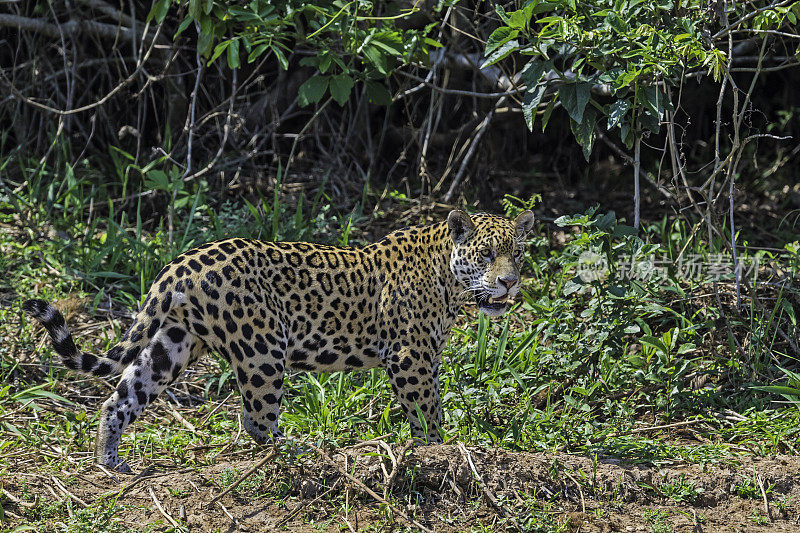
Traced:
<path fill-rule="evenodd" d="M 117 451 L 128 424 L 209 350 L 230 362 L 244 427 L 258 442 L 280 436 L 287 368 L 377 366 L 386 368 L 412 436 L 439 442 L 439 363 L 450 328 L 470 297 L 487 314 L 506 310 L 519 291 L 517 263 L 532 225 L 530 211 L 510 221 L 456 210 L 447 222 L 395 231 L 361 249 L 207 243 L 161 270 L 130 329 L 100 356 L 78 350 L 47 302 L 28 300 L 23 309 L 44 325 L 68 368 L 122 373 L 101 408 L 95 447 L 111 468 L 128 470 Z"/>

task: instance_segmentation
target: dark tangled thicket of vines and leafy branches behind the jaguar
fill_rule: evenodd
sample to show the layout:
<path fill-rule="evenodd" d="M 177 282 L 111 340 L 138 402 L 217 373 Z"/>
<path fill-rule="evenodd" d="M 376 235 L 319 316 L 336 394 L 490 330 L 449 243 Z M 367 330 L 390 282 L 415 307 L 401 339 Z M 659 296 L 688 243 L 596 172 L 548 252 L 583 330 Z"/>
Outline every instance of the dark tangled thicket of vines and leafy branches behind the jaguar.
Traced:
<path fill-rule="evenodd" d="M 593 171 L 575 162 L 582 150 L 591 165 L 633 163 L 673 204 L 710 195 L 721 210 L 733 180 L 765 191 L 791 179 L 783 141 L 797 134 L 797 110 L 790 92 L 762 89 L 794 83 L 800 13 L 791 0 L 726 6 L 131 0 L 128 14 L 30 2 L 14 6 L 21 22 L 0 49 L 13 87 L 0 151 L 46 155 L 56 172 L 68 162 L 107 173 L 124 157 L 123 196 L 171 197 L 148 172 L 224 190 L 291 160 L 295 172 L 333 166 L 350 193 L 378 176 L 388 191 L 447 191 L 452 203 L 487 186 L 502 197 L 480 179 L 493 172 L 553 171 L 575 184 Z M 63 43 L 70 69 L 46 59 L 66 19 L 76 21 Z M 21 182 L 16 164 L 4 170 Z M 543 179 L 525 174 L 526 193 Z"/>

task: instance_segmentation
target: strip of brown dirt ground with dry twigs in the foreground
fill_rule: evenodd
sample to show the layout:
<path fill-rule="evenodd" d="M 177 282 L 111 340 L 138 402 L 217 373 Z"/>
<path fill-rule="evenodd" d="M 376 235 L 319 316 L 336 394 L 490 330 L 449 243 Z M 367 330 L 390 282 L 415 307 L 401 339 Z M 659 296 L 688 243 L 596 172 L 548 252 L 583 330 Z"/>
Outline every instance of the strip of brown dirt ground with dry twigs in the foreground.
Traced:
<path fill-rule="evenodd" d="M 134 530 L 149 524 L 150 531 L 549 531 L 559 525 L 571 532 L 800 531 L 800 458 L 793 456 L 658 468 L 603 457 L 371 441 L 330 455 L 313 448 L 271 459 L 213 501 L 258 462 L 257 456 L 183 469 L 133 465 L 134 475 L 86 466 L 62 483 L 20 472 L 4 480 L 4 489 L 13 495 L 24 488 L 38 503 L 69 498 L 70 513 L 116 497 L 123 508 L 115 520 Z M 755 490 L 737 495 L 746 480 L 755 480 Z M 664 487 L 692 484 L 692 503 L 664 496 Z M 6 498 L 6 519 L 26 506 L 30 501 Z M 5 526 L 13 529 L 14 519 Z"/>

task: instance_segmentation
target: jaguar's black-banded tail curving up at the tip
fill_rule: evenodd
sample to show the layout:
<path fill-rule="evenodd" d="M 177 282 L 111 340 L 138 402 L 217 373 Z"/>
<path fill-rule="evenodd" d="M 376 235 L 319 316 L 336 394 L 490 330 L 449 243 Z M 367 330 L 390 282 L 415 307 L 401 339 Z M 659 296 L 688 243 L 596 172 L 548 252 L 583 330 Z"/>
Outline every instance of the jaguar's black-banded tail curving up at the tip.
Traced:
<path fill-rule="evenodd" d="M 124 352 L 120 345 L 111 348 L 105 355 L 93 355 L 79 350 L 72 340 L 64 316 L 46 301 L 27 300 L 22 304 L 22 310 L 44 326 L 53 341 L 53 349 L 61 356 L 67 368 L 95 376 L 108 376 L 122 372 L 127 366 L 122 362 Z"/>

